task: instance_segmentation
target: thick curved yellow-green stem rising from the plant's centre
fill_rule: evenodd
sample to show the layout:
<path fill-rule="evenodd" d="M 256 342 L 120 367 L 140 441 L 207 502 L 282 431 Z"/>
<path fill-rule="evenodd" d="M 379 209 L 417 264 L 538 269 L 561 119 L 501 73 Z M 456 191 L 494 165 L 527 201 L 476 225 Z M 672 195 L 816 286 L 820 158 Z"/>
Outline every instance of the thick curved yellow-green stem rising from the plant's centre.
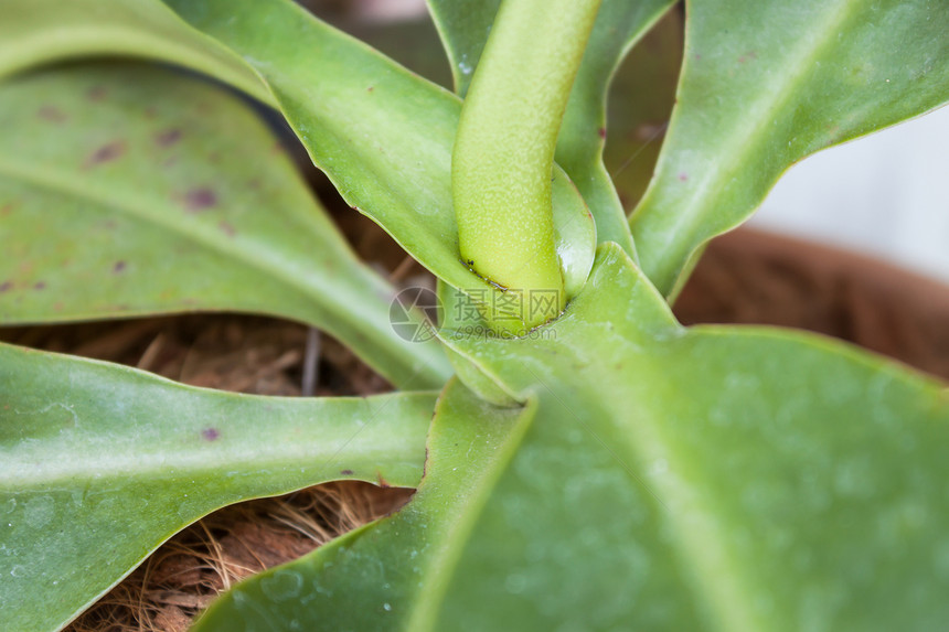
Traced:
<path fill-rule="evenodd" d="M 516 317 L 519 328 L 543 324 L 566 304 L 551 173 L 599 3 L 505 0 L 461 110 L 451 162 L 461 256 L 505 293 L 514 292 L 508 304 L 523 309 L 504 315 Z M 539 294 L 556 300 L 536 300 Z M 512 330 L 499 318 L 489 321 Z"/>

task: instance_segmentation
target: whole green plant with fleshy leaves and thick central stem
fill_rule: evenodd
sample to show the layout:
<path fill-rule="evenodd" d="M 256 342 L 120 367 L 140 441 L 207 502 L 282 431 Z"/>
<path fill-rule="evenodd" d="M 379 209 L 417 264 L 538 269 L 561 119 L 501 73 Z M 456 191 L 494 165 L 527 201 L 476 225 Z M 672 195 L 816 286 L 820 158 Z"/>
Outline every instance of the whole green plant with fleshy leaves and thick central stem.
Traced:
<path fill-rule="evenodd" d="M 0 628 L 61 628 L 216 507 L 348 478 L 418 492 L 195 630 L 945 628 L 946 385 L 667 300 L 792 162 L 949 98 L 949 4 L 693 0 L 629 222 L 605 90 L 671 1 L 498 6 L 429 0 L 462 105 L 289 0 L 0 1 L 0 321 L 264 312 L 402 389 L 247 397 L 0 345 Z M 393 333 L 394 290 L 232 93 L 24 72 L 93 56 L 281 113 L 438 277 L 437 340 Z"/>

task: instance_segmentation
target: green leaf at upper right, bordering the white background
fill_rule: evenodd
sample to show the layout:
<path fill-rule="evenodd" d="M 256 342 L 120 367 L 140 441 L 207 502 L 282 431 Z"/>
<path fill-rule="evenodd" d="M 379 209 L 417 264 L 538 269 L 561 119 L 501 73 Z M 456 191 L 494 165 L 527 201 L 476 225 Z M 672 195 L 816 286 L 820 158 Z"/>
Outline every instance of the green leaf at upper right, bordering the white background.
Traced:
<path fill-rule="evenodd" d="M 820 149 L 949 99 L 949 3 L 693 0 L 678 106 L 632 216 L 643 269 L 673 293 L 693 253 Z"/>

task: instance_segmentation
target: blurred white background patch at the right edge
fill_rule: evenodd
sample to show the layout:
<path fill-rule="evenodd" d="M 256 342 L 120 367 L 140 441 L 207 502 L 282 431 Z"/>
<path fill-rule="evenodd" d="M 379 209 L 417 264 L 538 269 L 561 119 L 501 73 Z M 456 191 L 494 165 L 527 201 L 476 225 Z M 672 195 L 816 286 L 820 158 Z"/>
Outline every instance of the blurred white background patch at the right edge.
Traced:
<path fill-rule="evenodd" d="M 803 160 L 750 225 L 949 282 L 949 107 Z"/>

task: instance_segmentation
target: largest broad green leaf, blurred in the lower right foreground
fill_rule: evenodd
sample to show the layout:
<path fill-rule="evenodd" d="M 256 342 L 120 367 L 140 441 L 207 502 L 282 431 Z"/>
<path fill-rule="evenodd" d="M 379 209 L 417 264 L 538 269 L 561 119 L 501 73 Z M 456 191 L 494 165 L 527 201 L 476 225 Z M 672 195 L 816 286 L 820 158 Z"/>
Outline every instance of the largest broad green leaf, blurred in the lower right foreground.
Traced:
<path fill-rule="evenodd" d="M 941 629 L 945 385 L 812 334 L 683 329 L 615 245 L 534 334 L 442 332 L 529 401 L 499 440 L 442 396 L 459 435 L 422 489 L 461 472 L 445 514 L 419 493 L 200 630 Z"/>

